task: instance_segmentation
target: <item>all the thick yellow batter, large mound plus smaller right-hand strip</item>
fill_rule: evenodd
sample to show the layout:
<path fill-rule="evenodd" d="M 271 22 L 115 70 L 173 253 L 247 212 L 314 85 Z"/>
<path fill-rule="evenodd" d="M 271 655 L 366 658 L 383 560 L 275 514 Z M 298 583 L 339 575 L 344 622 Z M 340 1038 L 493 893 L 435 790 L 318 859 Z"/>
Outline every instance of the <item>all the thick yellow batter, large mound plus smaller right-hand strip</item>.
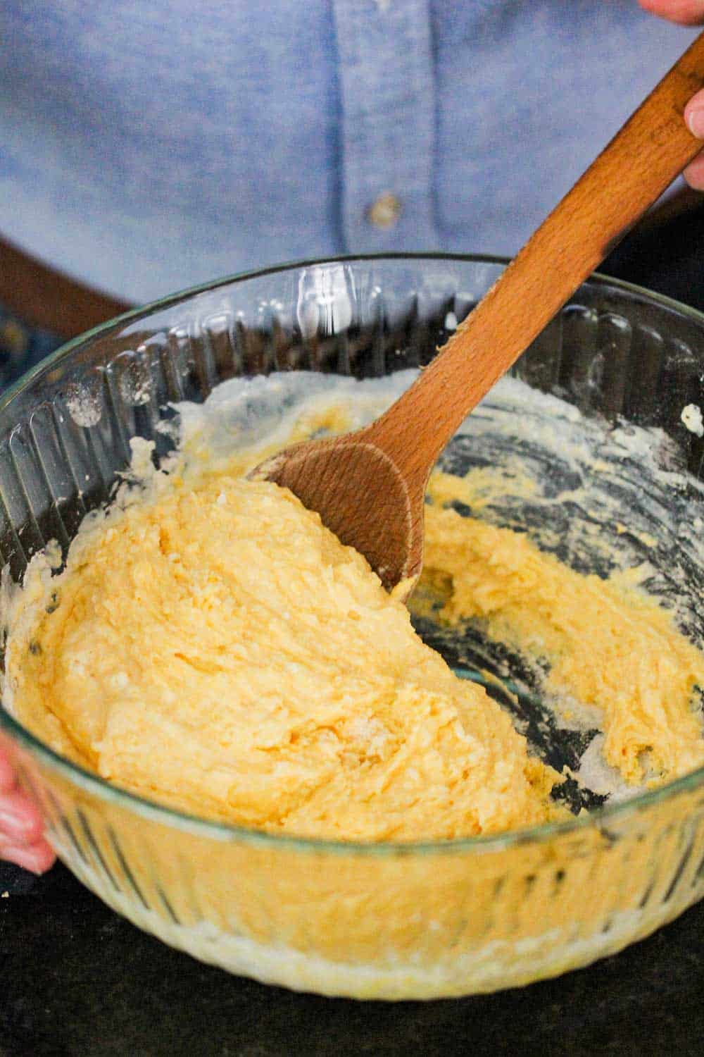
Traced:
<path fill-rule="evenodd" d="M 242 468 L 157 475 L 79 534 L 60 576 L 28 578 L 7 649 L 18 717 L 122 787 L 270 832 L 452 838 L 559 814 L 558 776 L 366 561 Z M 704 657 L 668 615 L 443 508 L 465 492 L 433 479 L 424 575 L 444 616 L 547 659 L 552 689 L 601 710 L 627 780 L 703 762 Z"/>

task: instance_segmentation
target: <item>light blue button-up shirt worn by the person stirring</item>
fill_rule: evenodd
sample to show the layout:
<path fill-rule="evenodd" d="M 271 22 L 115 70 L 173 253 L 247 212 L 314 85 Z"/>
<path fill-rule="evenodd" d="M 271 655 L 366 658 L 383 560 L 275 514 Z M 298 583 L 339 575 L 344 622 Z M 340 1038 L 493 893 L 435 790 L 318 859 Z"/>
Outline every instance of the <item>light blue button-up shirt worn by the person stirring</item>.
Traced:
<path fill-rule="evenodd" d="M 4 0 L 0 234 L 135 301 L 512 253 L 691 36 L 635 0 Z"/>

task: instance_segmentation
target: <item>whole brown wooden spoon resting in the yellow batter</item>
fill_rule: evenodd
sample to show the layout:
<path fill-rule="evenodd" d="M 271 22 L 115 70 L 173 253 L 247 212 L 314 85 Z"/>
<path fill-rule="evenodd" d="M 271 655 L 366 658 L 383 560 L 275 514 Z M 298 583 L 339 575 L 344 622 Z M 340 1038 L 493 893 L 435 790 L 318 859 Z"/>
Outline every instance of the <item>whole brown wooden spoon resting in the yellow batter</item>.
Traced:
<path fill-rule="evenodd" d="M 309 441 L 252 477 L 290 488 L 404 598 L 423 558 L 430 471 L 467 414 L 702 149 L 683 120 L 704 34 L 531 236 L 439 355 L 370 426 Z"/>

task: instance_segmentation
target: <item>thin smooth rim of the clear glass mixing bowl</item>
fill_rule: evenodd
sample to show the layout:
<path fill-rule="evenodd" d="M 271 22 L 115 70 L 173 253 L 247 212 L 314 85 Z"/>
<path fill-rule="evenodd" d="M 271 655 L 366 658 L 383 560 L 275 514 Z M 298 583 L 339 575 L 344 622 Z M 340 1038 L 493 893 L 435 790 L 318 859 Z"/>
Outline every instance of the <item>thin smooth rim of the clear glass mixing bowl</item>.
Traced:
<path fill-rule="evenodd" d="M 355 264 L 365 261 L 407 261 L 421 263 L 423 261 L 457 261 L 465 264 L 495 264 L 506 267 L 510 258 L 494 257 L 491 254 L 443 254 L 443 253 L 386 253 L 386 254 L 350 254 L 343 256 L 331 256 L 311 258 L 308 260 L 290 261 L 283 264 L 275 264 L 271 267 L 258 268 L 251 272 L 240 272 L 221 279 L 213 279 L 210 282 L 201 283 L 197 286 L 190 286 L 188 290 L 169 294 L 157 301 L 151 301 L 137 309 L 131 309 L 122 315 L 115 316 L 92 330 L 85 331 L 78 337 L 66 341 L 59 349 L 46 356 L 39 364 L 22 375 L 13 386 L 11 386 L 0 396 L 0 412 L 15 400 L 15 397 L 30 386 L 36 377 L 51 370 L 57 363 L 65 359 L 78 347 L 98 335 L 106 336 L 111 330 L 120 328 L 131 320 L 152 315 L 153 313 L 171 308 L 180 301 L 188 300 L 197 294 L 217 290 L 220 286 L 227 286 L 236 282 L 245 282 L 251 279 L 261 279 L 264 276 L 275 275 L 282 272 L 291 272 L 302 267 L 312 267 L 324 264 Z M 609 285 L 623 290 L 629 294 L 635 294 L 651 303 L 660 304 L 663 308 L 679 312 L 688 316 L 692 321 L 699 323 L 704 330 L 704 313 L 698 312 L 680 301 L 665 297 L 638 286 L 634 283 L 624 282 L 621 279 L 612 279 L 610 276 L 594 273 L 587 280 L 596 285 Z M 526 846 L 530 843 L 545 843 L 557 836 L 568 834 L 578 834 L 581 831 L 592 828 L 601 829 L 608 821 L 613 819 L 627 819 L 629 815 L 638 814 L 641 809 L 654 806 L 661 801 L 673 799 L 682 793 L 691 792 L 704 784 L 704 766 L 691 771 L 674 781 L 667 782 L 659 789 L 646 793 L 639 793 L 628 800 L 617 803 L 606 804 L 595 811 L 576 816 L 564 822 L 545 822 L 540 826 L 533 826 L 522 830 L 509 830 L 502 833 L 490 834 L 477 837 L 460 837 L 454 840 L 421 840 L 421 841 L 353 841 L 353 840 L 330 840 L 320 837 L 297 837 L 287 834 L 266 833 L 263 830 L 248 829 L 241 826 L 232 826 L 229 822 L 218 822 L 201 818 L 198 815 L 191 815 L 187 812 L 176 811 L 148 800 L 146 797 L 137 796 L 128 790 L 121 789 L 108 782 L 99 775 L 87 771 L 77 763 L 71 762 L 50 748 L 42 741 L 36 738 L 30 730 L 22 726 L 16 719 L 6 711 L 0 704 L 0 728 L 4 728 L 12 737 L 24 745 L 34 756 L 43 761 L 52 769 L 63 774 L 72 782 L 87 792 L 93 793 L 108 802 L 116 803 L 134 811 L 135 814 L 154 821 L 165 823 L 174 829 L 191 833 L 195 836 L 210 837 L 217 841 L 241 841 L 250 845 L 261 845 L 271 849 L 281 848 L 301 852 L 325 852 L 334 854 L 363 854 L 373 856 L 399 856 L 399 855 L 427 855 L 448 854 L 456 852 L 476 852 L 487 854 L 490 852 L 505 851 L 514 846 Z"/>

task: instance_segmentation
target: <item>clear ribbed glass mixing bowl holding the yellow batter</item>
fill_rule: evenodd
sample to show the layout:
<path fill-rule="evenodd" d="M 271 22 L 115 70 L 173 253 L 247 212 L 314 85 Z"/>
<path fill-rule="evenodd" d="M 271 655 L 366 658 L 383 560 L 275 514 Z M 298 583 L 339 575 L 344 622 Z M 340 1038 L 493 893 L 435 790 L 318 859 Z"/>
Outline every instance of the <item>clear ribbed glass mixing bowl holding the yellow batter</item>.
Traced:
<path fill-rule="evenodd" d="M 71 342 L 0 402 L 2 563 L 18 579 L 49 540 L 65 549 L 83 514 L 109 498 L 131 437 L 168 450 L 168 435 L 155 427 L 173 415 L 174 402 L 202 402 L 236 375 L 296 369 L 370 377 L 423 365 L 502 266 L 490 258 L 393 256 L 278 267 L 167 298 Z M 680 481 L 673 503 L 686 501 L 687 517 L 678 507 L 679 528 L 651 541 L 649 560 L 665 588 L 682 567 L 679 582 L 691 600 L 685 630 L 700 639 L 704 562 L 687 554 L 700 504 L 704 515 L 697 484 L 704 447 L 680 415 L 698 401 L 703 370 L 704 316 L 593 278 L 514 371 L 578 408 L 604 435 L 619 422 L 626 435 L 624 424 L 632 423 L 659 438 L 652 458 L 666 450 L 668 480 Z M 476 413 L 480 423 L 481 408 Z M 536 444 L 518 434 L 508 449 L 536 457 Z M 449 458 L 457 471 L 458 460 L 467 469 L 502 455 L 491 430 L 480 430 Z M 546 460 L 545 472 L 558 463 L 557 455 Z M 636 479 L 642 469 L 633 452 L 600 465 L 593 477 L 607 482 L 604 495 L 619 493 L 614 467 L 630 466 Z M 565 482 L 553 484 L 553 549 L 587 568 L 590 518 L 570 506 Z M 629 503 L 633 517 L 648 516 Z M 499 503 L 490 516 L 519 523 L 522 514 Z M 606 520 L 602 528 L 609 530 Z M 641 545 L 623 538 L 624 546 Z M 594 552 L 596 571 L 600 560 Z M 419 628 L 457 670 L 457 644 L 441 632 L 434 638 L 427 622 Z M 469 631 L 465 666 L 468 654 L 476 678 L 492 666 L 506 674 L 506 656 L 488 657 Z M 515 683 L 509 704 L 551 762 L 575 765 L 584 734 L 531 725 L 541 706 L 527 685 Z M 4 709 L 0 724 L 50 840 L 89 888 L 166 943 L 298 989 L 400 999 L 515 986 L 617 951 L 704 894 L 704 769 L 624 802 L 587 797 L 594 810 L 565 823 L 365 846 L 188 817 L 81 771 Z"/>

